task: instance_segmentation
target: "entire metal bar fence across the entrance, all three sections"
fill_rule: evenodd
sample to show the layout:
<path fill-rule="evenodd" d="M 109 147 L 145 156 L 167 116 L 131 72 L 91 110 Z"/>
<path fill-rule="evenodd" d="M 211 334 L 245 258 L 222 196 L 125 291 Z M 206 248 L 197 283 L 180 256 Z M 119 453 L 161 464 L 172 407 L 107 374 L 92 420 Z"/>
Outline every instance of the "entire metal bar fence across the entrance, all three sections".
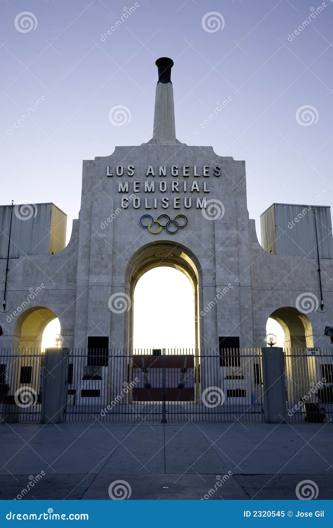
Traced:
<path fill-rule="evenodd" d="M 288 420 L 332 420 L 333 349 L 284 352 Z M 0 349 L 0 421 L 40 421 L 43 360 L 39 348 Z M 65 421 L 263 421 L 260 348 L 80 348 L 67 361 Z"/>

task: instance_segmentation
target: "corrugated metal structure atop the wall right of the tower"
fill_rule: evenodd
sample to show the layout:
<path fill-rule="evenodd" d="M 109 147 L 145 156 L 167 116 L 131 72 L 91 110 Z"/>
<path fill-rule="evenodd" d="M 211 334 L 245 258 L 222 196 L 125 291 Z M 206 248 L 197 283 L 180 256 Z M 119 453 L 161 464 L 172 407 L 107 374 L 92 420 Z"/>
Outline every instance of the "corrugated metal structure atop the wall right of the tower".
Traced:
<path fill-rule="evenodd" d="M 273 203 L 260 216 L 262 247 L 274 254 L 317 258 L 315 212 L 319 257 L 332 259 L 329 206 Z"/>

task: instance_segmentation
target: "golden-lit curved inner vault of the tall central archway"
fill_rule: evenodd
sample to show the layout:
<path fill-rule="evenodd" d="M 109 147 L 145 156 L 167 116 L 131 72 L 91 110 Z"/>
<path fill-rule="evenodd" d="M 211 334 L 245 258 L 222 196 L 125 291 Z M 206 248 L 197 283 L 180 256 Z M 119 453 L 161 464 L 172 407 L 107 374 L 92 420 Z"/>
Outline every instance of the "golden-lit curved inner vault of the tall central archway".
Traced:
<path fill-rule="evenodd" d="M 192 284 L 194 293 L 195 348 L 201 347 L 199 328 L 199 305 L 202 299 L 202 272 L 195 255 L 182 244 L 170 241 L 151 242 L 140 248 L 128 262 L 126 271 L 126 289 L 131 299 L 127 324 L 125 324 L 125 342 L 133 348 L 134 327 L 134 290 L 138 280 L 149 270 L 158 267 L 171 267 L 184 273 Z M 175 299 L 176 303 L 176 299 Z"/>

